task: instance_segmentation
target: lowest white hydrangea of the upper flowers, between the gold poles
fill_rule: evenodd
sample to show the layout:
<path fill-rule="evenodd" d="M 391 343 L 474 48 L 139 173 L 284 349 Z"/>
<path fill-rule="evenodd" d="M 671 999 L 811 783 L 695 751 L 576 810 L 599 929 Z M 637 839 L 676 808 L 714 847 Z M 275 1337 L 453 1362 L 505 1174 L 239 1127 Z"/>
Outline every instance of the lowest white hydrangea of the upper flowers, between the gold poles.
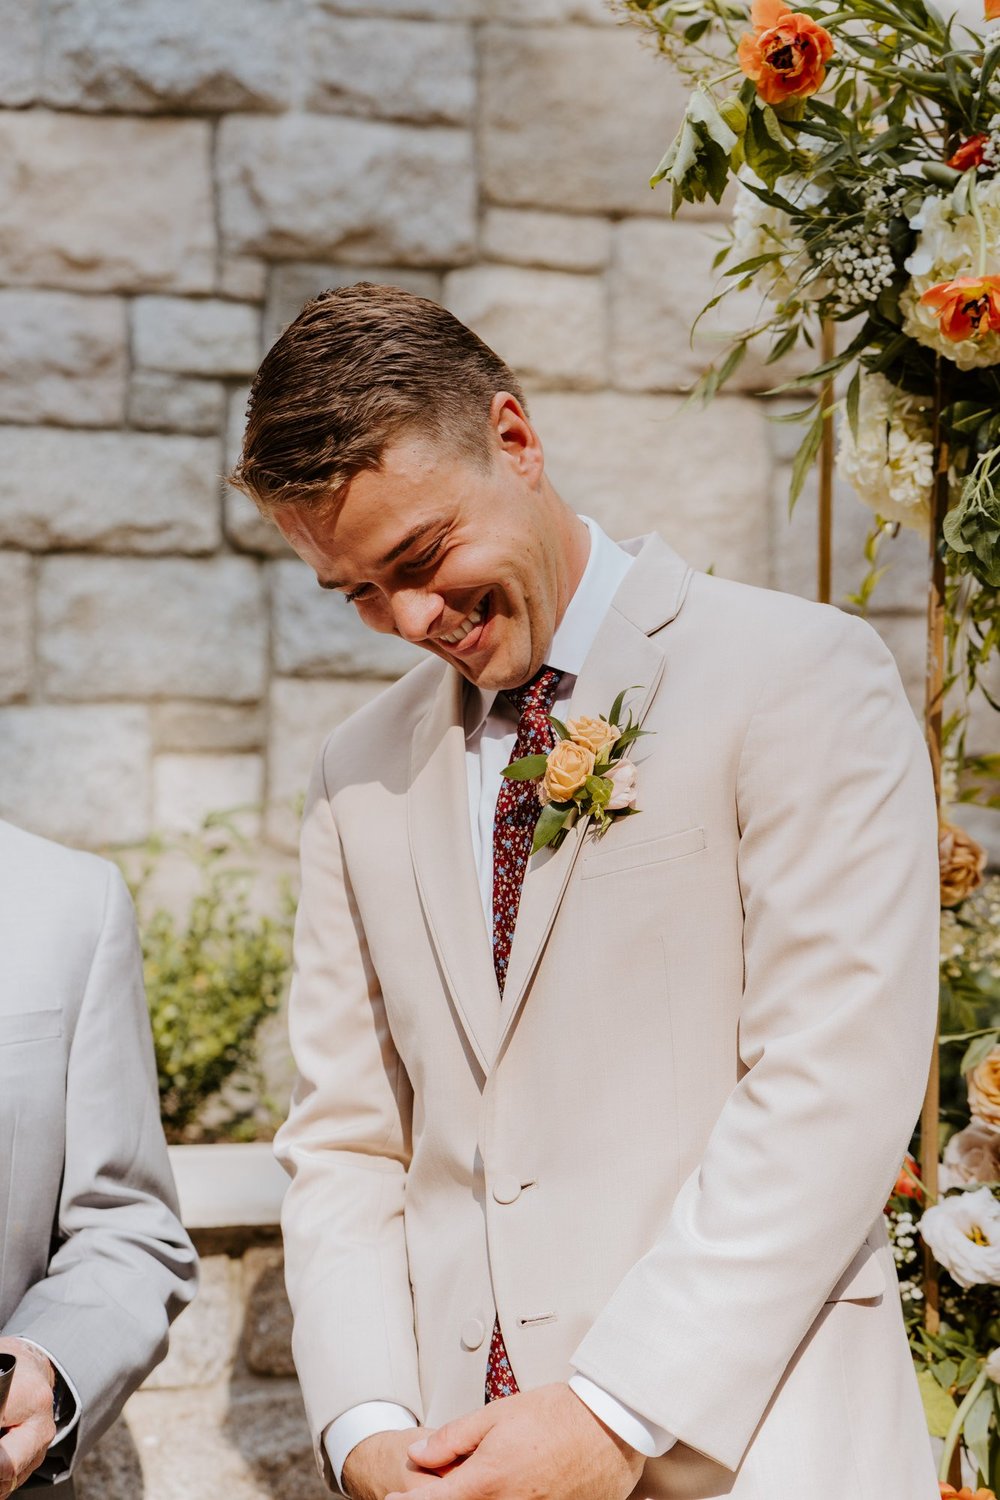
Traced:
<path fill-rule="evenodd" d="M 934 492 L 930 400 L 909 396 L 885 375 L 862 374 L 858 440 L 844 417 L 837 472 L 876 514 L 928 536 Z"/>

